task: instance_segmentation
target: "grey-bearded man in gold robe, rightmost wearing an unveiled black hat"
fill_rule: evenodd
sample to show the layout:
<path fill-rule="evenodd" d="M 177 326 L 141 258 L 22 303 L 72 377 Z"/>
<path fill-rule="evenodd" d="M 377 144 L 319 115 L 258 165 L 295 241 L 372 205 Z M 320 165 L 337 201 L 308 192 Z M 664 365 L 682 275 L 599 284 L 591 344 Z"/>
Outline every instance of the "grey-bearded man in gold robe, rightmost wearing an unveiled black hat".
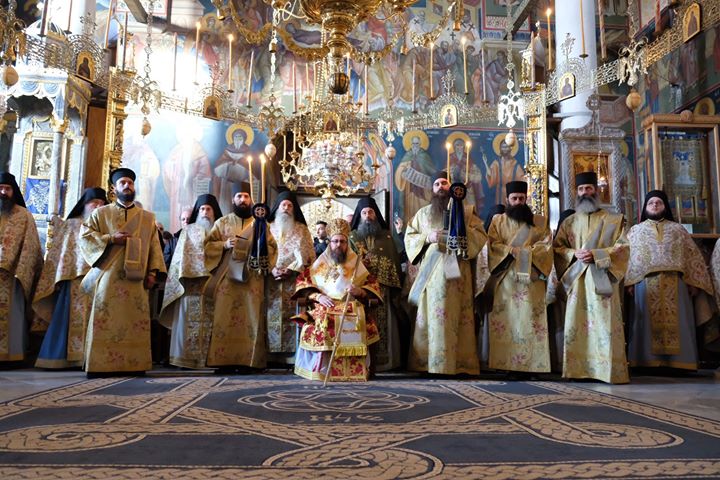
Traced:
<path fill-rule="evenodd" d="M 599 208 L 596 173 L 580 173 L 575 182 L 576 213 L 553 244 L 567 294 L 563 377 L 627 383 L 620 297 L 630 254 L 625 218 Z"/>

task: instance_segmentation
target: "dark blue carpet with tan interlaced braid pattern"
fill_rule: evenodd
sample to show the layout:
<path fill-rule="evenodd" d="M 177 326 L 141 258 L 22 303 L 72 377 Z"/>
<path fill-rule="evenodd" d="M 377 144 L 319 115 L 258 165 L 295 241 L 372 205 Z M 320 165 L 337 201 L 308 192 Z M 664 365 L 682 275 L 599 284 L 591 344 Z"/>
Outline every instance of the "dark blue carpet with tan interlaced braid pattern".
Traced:
<path fill-rule="evenodd" d="M 0 403 L 0 479 L 720 478 L 718 437 L 567 383 L 108 378 Z"/>

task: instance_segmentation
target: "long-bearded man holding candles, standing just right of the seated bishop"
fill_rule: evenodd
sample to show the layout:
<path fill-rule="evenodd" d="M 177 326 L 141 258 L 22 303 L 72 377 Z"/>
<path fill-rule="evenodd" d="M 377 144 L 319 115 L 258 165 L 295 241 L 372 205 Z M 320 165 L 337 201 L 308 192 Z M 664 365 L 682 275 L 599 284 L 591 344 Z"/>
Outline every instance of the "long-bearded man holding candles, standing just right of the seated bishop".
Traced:
<path fill-rule="evenodd" d="M 452 264 L 455 255 L 445 253 L 444 229 L 449 190 L 447 173 L 435 174 L 431 204 L 418 210 L 405 231 L 408 260 L 420 264 L 409 298 L 418 309 L 409 368 L 432 374 L 474 375 L 480 372 L 480 364 L 470 263 L 487 236 L 472 207 L 466 208 L 467 258 L 457 258 L 457 264 Z"/>

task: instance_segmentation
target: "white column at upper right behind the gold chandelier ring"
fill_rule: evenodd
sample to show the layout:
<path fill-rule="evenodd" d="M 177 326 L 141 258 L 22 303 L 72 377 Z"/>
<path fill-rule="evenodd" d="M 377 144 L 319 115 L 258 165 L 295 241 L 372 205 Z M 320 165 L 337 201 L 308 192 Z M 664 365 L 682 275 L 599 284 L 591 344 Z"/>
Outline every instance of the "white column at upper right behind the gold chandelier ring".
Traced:
<path fill-rule="evenodd" d="M 556 1 L 555 6 L 555 28 L 556 37 L 554 38 L 553 48 L 557 58 L 558 71 L 562 69 L 561 45 L 565 41 L 568 33 L 575 38 L 575 44 L 570 52 L 570 58 L 578 57 L 582 51 L 582 29 L 580 22 L 580 2 L 582 2 L 583 21 L 585 30 L 585 53 L 587 57 L 582 60 L 586 72 L 597 68 L 597 45 L 595 40 L 595 9 L 597 0 L 562 0 Z M 562 3 L 562 6 L 560 5 Z M 561 7 L 561 8 L 560 8 Z M 555 115 L 562 117 L 560 130 L 567 128 L 579 128 L 586 125 L 590 121 L 590 110 L 587 107 L 587 100 L 593 90 L 588 89 L 584 92 L 577 92 L 573 98 L 560 102 L 560 114 Z"/>

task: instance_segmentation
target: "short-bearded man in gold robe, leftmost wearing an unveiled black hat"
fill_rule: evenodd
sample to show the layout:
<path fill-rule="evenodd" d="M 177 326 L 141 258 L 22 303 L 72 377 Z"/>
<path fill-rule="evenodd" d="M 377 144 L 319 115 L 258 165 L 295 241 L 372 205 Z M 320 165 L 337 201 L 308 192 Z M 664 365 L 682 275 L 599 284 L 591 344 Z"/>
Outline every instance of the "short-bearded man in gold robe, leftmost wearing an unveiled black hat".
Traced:
<path fill-rule="evenodd" d="M 80 250 L 92 265 L 82 286 L 92 296 L 85 371 L 144 372 L 152 367 L 148 290 L 165 276 L 155 215 L 135 205 L 135 172 L 110 174 L 117 199 L 83 223 Z"/>

